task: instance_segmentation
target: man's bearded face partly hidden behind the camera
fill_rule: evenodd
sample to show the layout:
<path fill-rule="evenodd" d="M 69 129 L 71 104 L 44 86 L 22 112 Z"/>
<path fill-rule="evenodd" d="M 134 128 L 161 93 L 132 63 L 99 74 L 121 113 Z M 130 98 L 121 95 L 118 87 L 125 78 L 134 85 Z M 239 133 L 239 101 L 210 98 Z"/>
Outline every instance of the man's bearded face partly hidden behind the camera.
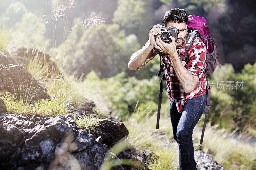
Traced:
<path fill-rule="evenodd" d="M 178 34 L 178 39 L 176 42 L 176 48 L 180 48 L 183 42 L 186 40 L 187 35 L 187 25 L 185 22 L 182 23 L 175 23 L 175 22 L 168 22 L 166 24 L 166 28 L 178 28 L 180 33 Z"/>

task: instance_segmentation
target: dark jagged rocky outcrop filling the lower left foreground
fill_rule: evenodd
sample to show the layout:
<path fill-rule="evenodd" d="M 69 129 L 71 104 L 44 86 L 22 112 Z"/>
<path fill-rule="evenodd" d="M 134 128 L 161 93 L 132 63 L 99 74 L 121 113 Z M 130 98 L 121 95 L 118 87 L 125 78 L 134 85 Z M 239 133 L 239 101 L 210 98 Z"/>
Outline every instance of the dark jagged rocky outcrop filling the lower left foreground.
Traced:
<path fill-rule="evenodd" d="M 0 112 L 4 103 L 0 99 Z M 110 145 L 117 139 L 127 137 L 128 130 L 122 122 L 108 120 L 102 122 L 101 136 L 94 136 L 79 129 L 72 115 L 58 115 L 55 118 L 33 115 L 0 113 L 0 169 L 81 169 L 98 170 Z M 119 130 L 113 130 L 118 128 Z M 122 128 L 120 128 L 122 127 Z M 124 130 L 124 132 L 122 132 Z M 118 138 L 115 138 L 114 134 Z M 106 134 L 113 137 L 112 140 Z M 105 142 L 104 142 L 105 141 Z M 106 144 L 104 144 L 106 143 Z M 112 158 L 132 159 L 145 165 L 148 157 L 144 152 L 127 149 Z M 153 153 L 152 153 L 153 154 Z M 133 166 L 119 165 L 112 170 L 136 169 Z M 145 168 L 146 169 L 146 168 Z M 149 168 L 148 168 L 149 169 Z"/>

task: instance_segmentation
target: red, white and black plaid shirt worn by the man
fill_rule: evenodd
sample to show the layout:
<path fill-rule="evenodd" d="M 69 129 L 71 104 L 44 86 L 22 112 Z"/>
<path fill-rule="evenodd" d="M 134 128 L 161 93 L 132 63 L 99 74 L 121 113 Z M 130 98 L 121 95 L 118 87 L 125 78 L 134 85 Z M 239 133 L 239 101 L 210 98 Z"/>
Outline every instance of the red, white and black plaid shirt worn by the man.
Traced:
<path fill-rule="evenodd" d="M 148 44 L 149 41 L 146 43 Z M 145 44 L 145 45 L 146 45 Z M 143 46 L 142 48 L 144 48 Z M 183 43 L 182 47 L 176 49 L 179 58 L 184 56 L 185 52 L 185 42 Z M 149 57 L 140 67 L 136 70 L 139 70 L 142 66 L 146 65 L 152 58 L 154 58 L 159 52 L 154 47 L 153 50 L 150 52 L 151 57 Z M 204 74 L 204 70 L 206 68 L 206 47 L 202 40 L 196 37 L 195 41 L 193 42 L 191 48 L 188 51 L 189 61 L 186 64 L 185 60 L 182 60 L 181 63 L 184 67 L 192 74 L 199 78 L 199 82 L 197 83 L 195 89 L 190 93 L 185 93 L 184 89 L 182 88 L 179 79 L 174 72 L 174 68 L 171 63 L 170 57 L 165 54 L 162 58 L 164 63 L 164 70 L 165 70 L 165 77 L 166 77 L 166 85 L 167 85 L 167 92 L 169 99 L 171 100 L 171 104 L 173 102 L 176 103 L 176 107 L 178 112 L 182 112 L 182 107 L 184 103 L 191 98 L 196 96 L 200 96 L 206 92 L 207 81 L 206 76 Z"/>

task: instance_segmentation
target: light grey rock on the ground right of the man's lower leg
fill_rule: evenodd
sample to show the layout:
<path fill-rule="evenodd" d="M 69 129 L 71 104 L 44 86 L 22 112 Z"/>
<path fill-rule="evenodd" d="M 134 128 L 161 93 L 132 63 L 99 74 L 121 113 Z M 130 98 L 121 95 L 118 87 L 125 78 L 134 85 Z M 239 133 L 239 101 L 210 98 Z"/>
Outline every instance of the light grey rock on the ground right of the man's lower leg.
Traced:
<path fill-rule="evenodd" d="M 205 153 L 201 150 L 195 151 L 195 161 L 197 169 L 224 170 L 224 168 L 217 163 L 211 154 Z"/>

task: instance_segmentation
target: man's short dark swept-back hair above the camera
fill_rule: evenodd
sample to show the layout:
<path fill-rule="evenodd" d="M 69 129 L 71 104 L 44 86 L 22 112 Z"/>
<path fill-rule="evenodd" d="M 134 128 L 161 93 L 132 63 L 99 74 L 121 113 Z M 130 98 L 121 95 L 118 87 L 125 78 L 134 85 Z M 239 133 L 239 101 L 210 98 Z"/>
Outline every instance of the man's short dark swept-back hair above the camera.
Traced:
<path fill-rule="evenodd" d="M 186 25 L 188 23 L 187 12 L 184 9 L 174 8 L 164 13 L 163 24 L 166 26 L 168 22 L 181 23 L 185 22 Z"/>

